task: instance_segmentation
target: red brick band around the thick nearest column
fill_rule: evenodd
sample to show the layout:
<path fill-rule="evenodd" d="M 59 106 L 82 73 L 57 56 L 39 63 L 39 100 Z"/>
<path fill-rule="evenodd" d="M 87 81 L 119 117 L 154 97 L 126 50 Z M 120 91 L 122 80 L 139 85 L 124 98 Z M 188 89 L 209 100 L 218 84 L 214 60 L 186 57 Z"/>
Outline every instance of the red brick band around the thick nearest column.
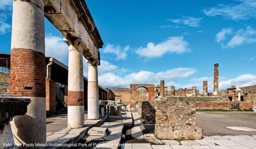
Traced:
<path fill-rule="evenodd" d="M 28 49 L 11 50 L 12 95 L 45 97 L 45 55 Z"/>

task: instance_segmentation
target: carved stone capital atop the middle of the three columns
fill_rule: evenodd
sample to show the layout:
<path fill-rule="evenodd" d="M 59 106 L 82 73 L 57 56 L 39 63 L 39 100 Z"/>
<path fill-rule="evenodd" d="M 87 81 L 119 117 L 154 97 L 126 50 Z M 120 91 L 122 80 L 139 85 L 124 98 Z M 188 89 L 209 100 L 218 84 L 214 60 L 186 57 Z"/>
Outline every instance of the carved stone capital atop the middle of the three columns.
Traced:
<path fill-rule="evenodd" d="M 68 46 L 74 46 L 74 48 L 76 49 L 76 50 L 78 50 L 78 51 L 81 51 L 81 52 L 83 52 L 83 49 L 85 49 L 86 48 L 86 45 L 82 42 L 82 39 L 81 38 L 76 38 L 76 37 L 74 37 L 74 38 L 66 38 L 66 37 L 64 37 L 63 38 L 63 41 L 65 42 L 65 43 L 67 43 L 68 44 Z"/>

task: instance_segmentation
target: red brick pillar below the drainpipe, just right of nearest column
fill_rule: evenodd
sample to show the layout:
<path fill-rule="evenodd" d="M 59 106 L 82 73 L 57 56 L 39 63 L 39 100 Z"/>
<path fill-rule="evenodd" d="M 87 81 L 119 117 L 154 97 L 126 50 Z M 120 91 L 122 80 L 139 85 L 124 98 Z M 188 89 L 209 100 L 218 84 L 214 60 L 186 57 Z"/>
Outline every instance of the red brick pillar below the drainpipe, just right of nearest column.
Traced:
<path fill-rule="evenodd" d="M 56 113 L 56 85 L 55 81 L 45 80 L 46 91 L 46 114 Z"/>

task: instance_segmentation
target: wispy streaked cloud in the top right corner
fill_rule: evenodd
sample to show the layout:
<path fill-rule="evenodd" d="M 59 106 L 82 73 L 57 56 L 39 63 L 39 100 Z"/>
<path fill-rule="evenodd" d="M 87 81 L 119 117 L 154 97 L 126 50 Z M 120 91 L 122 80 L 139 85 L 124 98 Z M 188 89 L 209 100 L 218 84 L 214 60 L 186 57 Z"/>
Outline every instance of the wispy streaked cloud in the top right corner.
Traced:
<path fill-rule="evenodd" d="M 203 9 L 206 16 L 223 16 L 232 20 L 256 18 L 255 0 L 237 0 L 238 4 L 219 4 L 217 7 Z"/>

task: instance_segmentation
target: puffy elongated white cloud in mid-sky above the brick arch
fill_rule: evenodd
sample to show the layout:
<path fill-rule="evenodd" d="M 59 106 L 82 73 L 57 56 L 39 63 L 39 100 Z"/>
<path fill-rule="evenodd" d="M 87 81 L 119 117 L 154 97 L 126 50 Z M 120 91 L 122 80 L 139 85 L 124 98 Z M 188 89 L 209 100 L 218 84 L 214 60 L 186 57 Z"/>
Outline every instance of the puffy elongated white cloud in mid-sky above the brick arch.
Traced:
<path fill-rule="evenodd" d="M 136 50 L 136 53 L 140 56 L 155 58 L 161 57 L 165 53 L 177 53 L 181 54 L 184 52 L 191 51 L 188 48 L 188 42 L 183 40 L 181 37 L 169 37 L 166 41 L 162 43 L 148 43 L 147 47 L 140 47 Z"/>

